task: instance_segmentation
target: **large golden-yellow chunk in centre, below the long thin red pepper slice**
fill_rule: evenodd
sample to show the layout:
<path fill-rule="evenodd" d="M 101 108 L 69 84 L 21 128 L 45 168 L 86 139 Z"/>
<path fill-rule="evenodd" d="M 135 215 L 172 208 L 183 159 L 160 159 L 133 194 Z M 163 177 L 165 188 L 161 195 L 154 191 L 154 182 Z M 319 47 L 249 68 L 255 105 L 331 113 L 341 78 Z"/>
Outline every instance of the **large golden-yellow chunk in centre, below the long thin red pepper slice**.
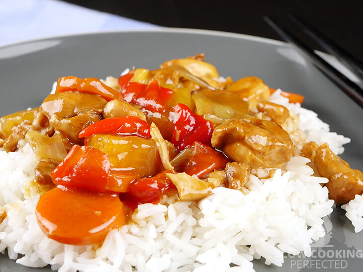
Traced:
<path fill-rule="evenodd" d="M 155 142 L 138 136 L 95 134 L 85 139 L 85 144 L 108 155 L 111 170 L 126 176 L 144 178 L 162 170 L 162 163 Z"/>

